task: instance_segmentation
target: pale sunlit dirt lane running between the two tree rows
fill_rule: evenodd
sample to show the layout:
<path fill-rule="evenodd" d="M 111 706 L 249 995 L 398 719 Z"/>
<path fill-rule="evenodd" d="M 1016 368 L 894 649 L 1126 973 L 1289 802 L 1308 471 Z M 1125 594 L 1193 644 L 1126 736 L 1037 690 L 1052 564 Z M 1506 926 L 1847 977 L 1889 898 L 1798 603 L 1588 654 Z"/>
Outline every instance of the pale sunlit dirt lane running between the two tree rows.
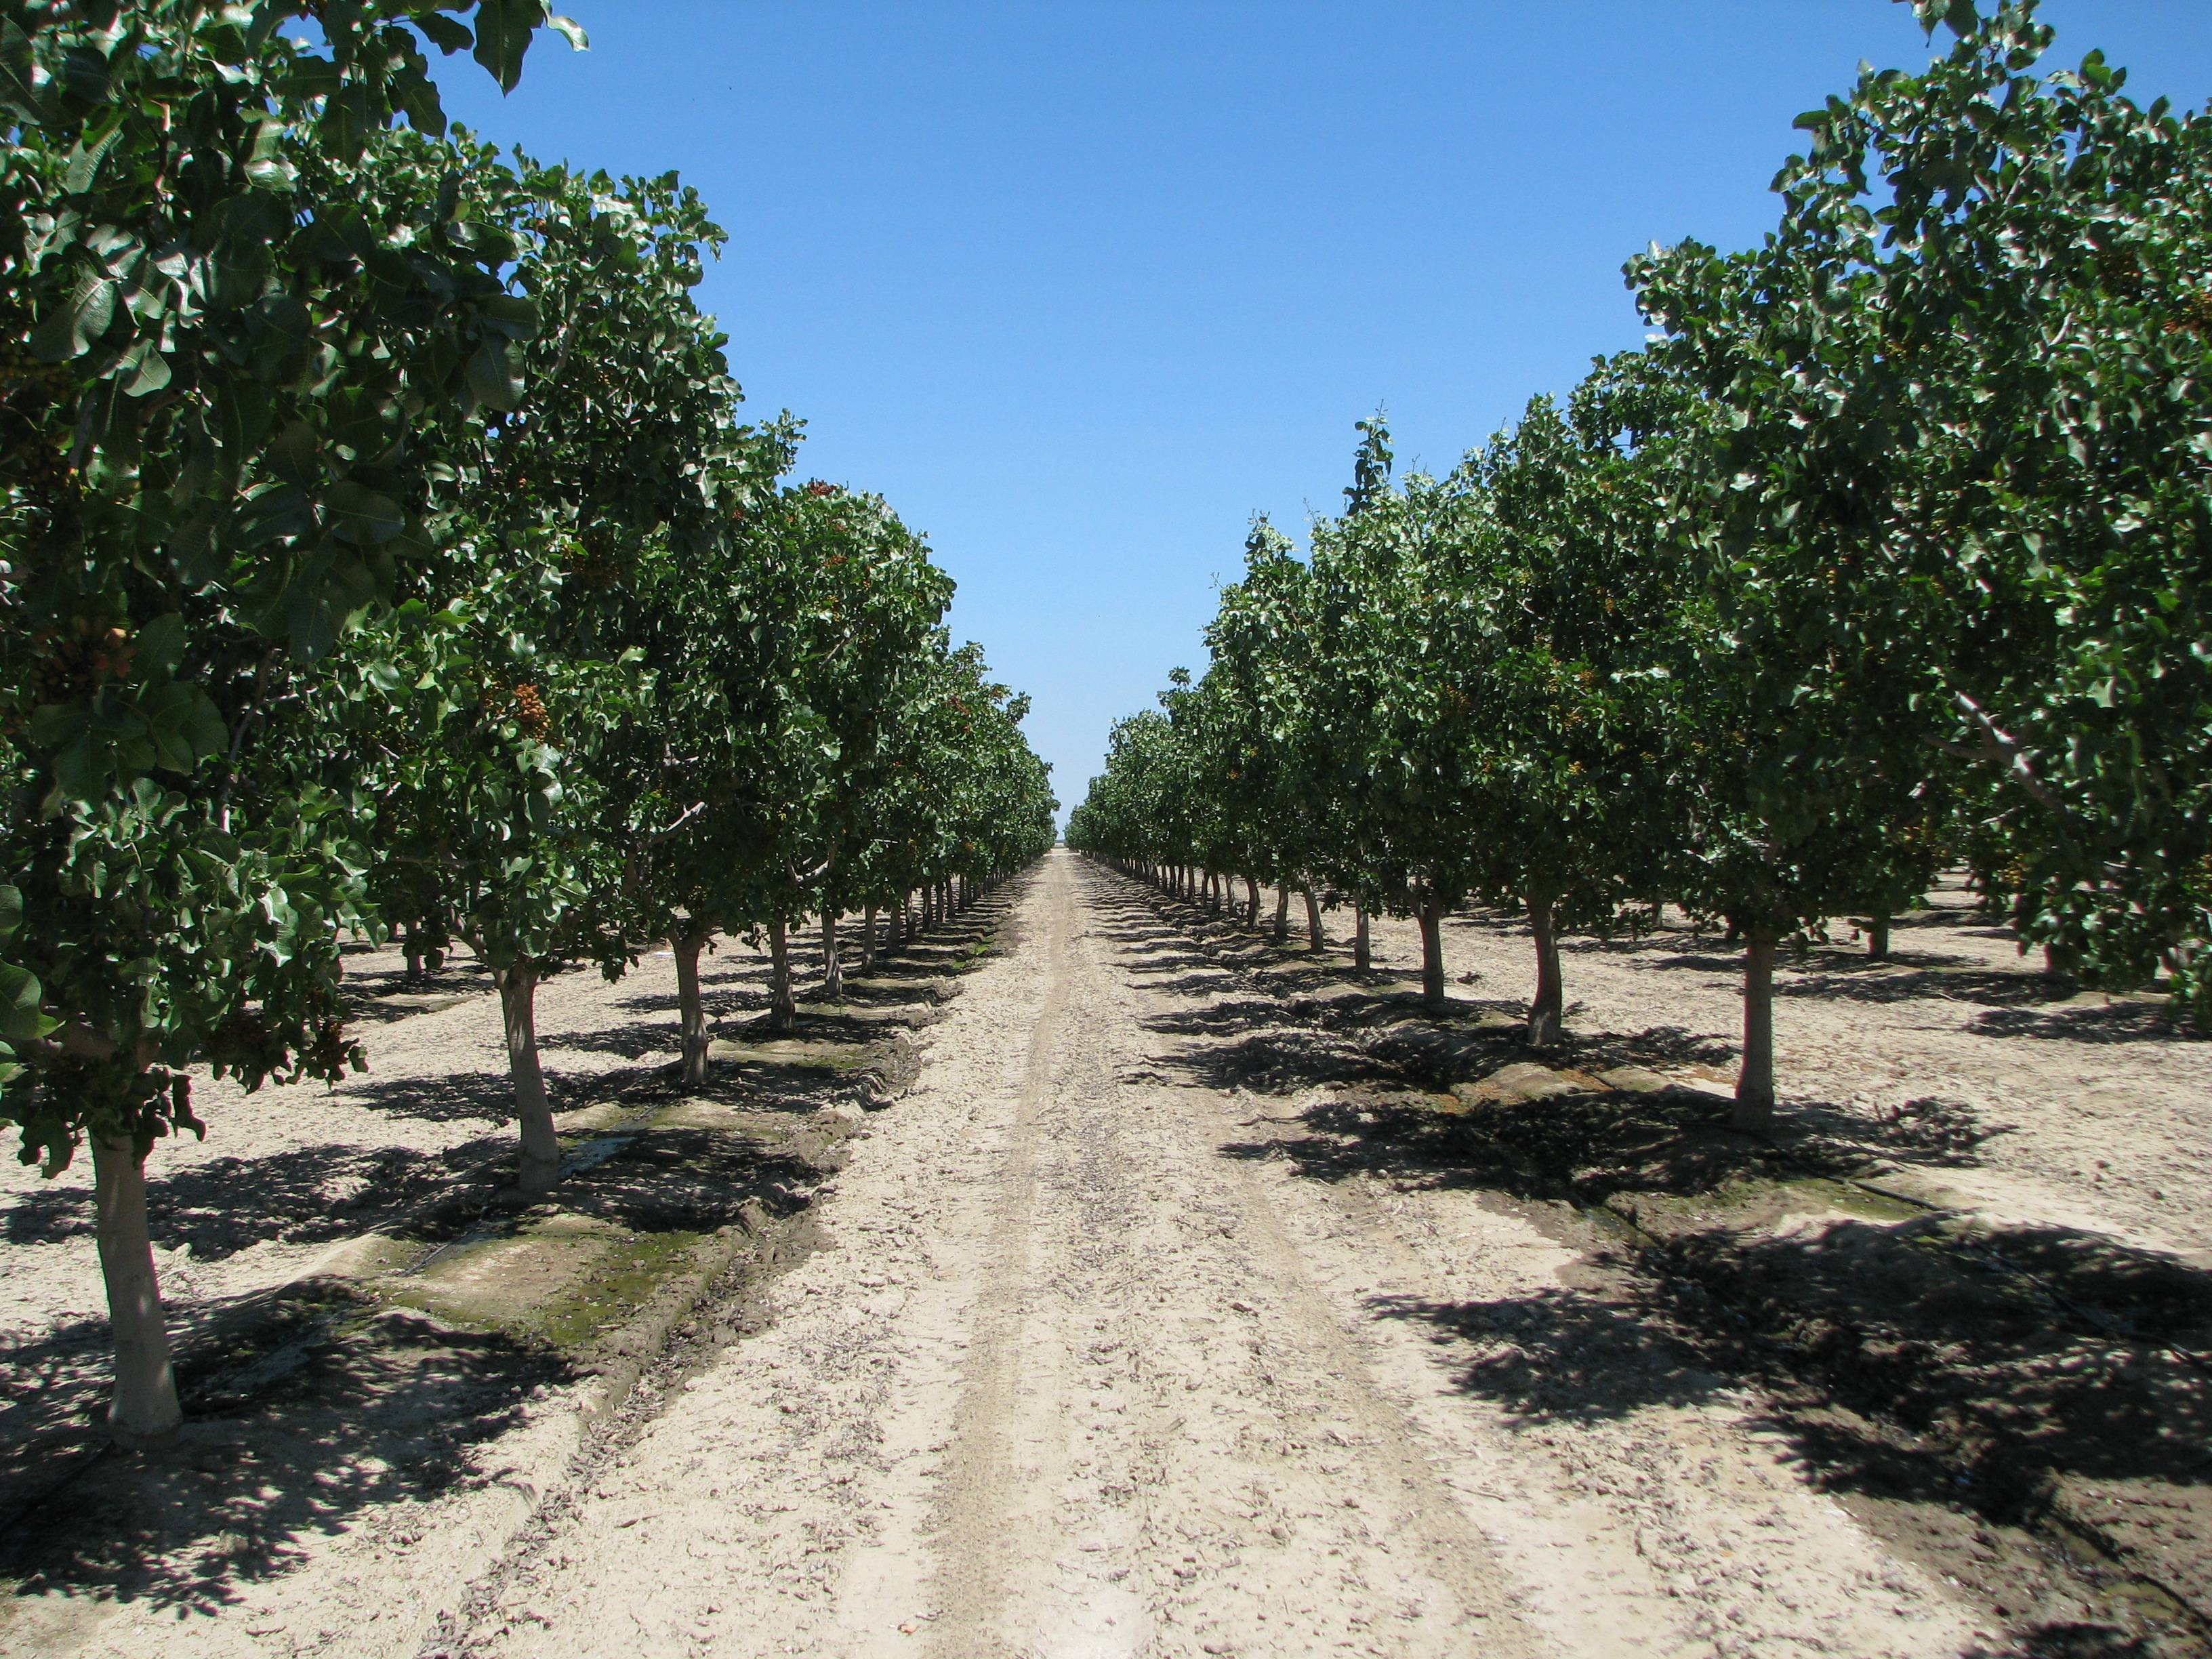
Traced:
<path fill-rule="evenodd" d="M 460 1646 L 1975 1644 L 1717 1378 L 1621 1352 L 1619 1409 L 1579 1418 L 1462 1389 L 1482 1338 L 1442 1314 L 1557 1290 L 1568 1252 L 1469 1192 L 1252 1155 L 1281 1104 L 1157 1068 L 1146 1022 L 1210 969 L 1130 885 L 1055 854 L 1002 945 L 841 1177 L 776 1323 L 480 1586 Z"/>

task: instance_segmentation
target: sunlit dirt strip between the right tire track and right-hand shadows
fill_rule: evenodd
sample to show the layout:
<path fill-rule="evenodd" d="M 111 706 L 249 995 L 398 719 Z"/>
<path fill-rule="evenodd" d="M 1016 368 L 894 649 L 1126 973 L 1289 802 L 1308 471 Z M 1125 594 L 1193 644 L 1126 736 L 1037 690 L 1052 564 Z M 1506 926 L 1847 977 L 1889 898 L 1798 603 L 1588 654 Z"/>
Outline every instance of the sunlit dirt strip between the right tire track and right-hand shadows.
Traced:
<path fill-rule="evenodd" d="M 1161 947 L 1208 956 L 1150 891 L 1106 872 L 1095 880 L 1152 918 L 1146 931 Z M 1139 991 L 1133 1013 L 1170 1031 L 1265 1024 L 1256 982 L 1228 971 L 1219 991 L 1239 1018 L 1190 1018 L 1206 1006 L 1197 980 Z M 1228 1044 L 1201 1035 L 1148 1060 L 1217 1077 L 1232 1071 L 1221 1064 Z M 1584 1305 L 1562 1281 L 1573 1250 L 1449 1181 L 1398 1190 L 1356 1170 L 1298 1175 L 1294 1159 L 1267 1150 L 1265 1130 L 1252 1133 L 1303 1124 L 1305 1108 L 1336 1091 L 1166 1093 L 1188 1102 L 1192 1146 L 1241 1152 L 1221 1164 L 1241 1172 L 1250 1214 L 1265 1217 L 1365 1365 L 1365 1400 L 1436 1471 L 1462 1524 L 1493 1542 L 1557 1650 L 1989 1652 L 1973 1610 L 1807 1486 L 1756 1398 L 1688 1371 L 1657 1334 Z M 1511 1378 L 1531 1363 L 1571 1367 L 1557 1380 L 1575 1405 L 1522 1398 Z"/>

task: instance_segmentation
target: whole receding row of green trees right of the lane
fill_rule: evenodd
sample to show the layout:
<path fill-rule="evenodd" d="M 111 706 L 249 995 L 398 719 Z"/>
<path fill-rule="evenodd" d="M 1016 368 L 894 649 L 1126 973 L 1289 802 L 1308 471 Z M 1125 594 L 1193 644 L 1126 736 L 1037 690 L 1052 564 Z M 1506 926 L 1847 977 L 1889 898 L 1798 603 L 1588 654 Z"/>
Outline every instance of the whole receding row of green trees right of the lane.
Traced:
<path fill-rule="evenodd" d="M 2033 4 L 1920 13 L 1761 248 L 1628 265 L 1644 349 L 1449 478 L 1363 422 L 1305 560 L 1256 524 L 1068 845 L 1418 916 L 1436 1002 L 1438 920 L 1524 909 L 1540 1046 L 1562 929 L 1725 918 L 1752 1130 L 1776 949 L 1944 865 L 2212 1020 L 2212 122 L 2035 73 Z"/>

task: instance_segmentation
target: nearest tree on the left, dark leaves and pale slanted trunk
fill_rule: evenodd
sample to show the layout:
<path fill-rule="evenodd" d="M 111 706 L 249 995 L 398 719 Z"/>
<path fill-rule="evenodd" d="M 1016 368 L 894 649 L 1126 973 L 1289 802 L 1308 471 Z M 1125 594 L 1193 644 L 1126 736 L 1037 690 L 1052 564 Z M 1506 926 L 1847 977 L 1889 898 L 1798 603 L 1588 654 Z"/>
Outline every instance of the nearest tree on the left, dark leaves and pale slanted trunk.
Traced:
<path fill-rule="evenodd" d="M 51 1022 L 0 1110 L 49 1170 L 93 1144 L 126 1442 L 179 1422 L 144 1159 L 199 1128 L 184 1068 L 352 1064 L 361 858 L 274 703 L 420 557 L 427 434 L 511 396 L 531 330 L 509 243 L 372 139 L 442 128 L 425 42 L 511 86 L 546 22 L 573 33 L 540 0 L 0 7 L 0 834 Z"/>

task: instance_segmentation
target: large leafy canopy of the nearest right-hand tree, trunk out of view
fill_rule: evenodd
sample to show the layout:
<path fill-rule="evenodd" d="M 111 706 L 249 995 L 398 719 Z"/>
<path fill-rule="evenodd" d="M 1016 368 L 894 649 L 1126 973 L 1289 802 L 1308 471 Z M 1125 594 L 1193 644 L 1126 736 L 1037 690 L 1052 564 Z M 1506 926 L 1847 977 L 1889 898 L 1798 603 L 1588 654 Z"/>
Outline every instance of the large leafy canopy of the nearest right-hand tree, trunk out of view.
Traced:
<path fill-rule="evenodd" d="M 1838 823 L 1889 843 L 1823 849 L 1829 902 L 1909 887 L 1947 801 L 1986 799 L 2024 940 L 2203 1000 L 2212 126 L 2095 53 L 2035 73 L 2033 4 L 1920 13 L 1949 53 L 1801 117 L 1761 248 L 1630 268 L 1655 356 L 1725 411 L 1686 451 L 1717 637 L 1805 732 L 1776 761 L 1856 772 Z"/>

